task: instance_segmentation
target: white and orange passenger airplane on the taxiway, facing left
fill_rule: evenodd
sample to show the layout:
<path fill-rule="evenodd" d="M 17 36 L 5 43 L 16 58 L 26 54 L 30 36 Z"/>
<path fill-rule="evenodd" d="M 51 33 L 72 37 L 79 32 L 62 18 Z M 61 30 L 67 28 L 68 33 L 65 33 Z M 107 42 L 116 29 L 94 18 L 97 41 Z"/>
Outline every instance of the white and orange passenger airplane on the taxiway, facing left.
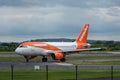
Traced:
<path fill-rule="evenodd" d="M 67 54 L 100 50 L 101 48 L 90 48 L 91 44 L 87 43 L 89 27 L 90 24 L 85 24 L 74 42 L 23 42 L 15 52 L 24 56 L 26 62 L 37 56 L 43 56 L 42 62 L 48 61 L 47 56 L 51 56 L 53 60 L 65 62 Z"/>

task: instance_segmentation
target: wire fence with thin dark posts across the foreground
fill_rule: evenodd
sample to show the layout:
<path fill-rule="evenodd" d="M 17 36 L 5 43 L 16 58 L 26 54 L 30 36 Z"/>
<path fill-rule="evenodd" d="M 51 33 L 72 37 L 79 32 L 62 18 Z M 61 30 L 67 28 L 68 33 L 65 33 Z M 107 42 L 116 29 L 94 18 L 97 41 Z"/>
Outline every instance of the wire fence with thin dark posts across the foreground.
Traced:
<path fill-rule="evenodd" d="M 0 68 L 0 80 L 120 80 L 120 65 L 10 65 L 6 68 Z"/>

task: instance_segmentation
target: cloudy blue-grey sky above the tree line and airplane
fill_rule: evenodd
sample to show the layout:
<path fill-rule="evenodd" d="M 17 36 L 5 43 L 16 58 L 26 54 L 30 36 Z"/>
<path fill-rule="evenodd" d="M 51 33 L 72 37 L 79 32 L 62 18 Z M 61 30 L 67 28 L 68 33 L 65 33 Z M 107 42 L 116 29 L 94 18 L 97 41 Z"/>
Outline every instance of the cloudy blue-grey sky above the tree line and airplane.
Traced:
<path fill-rule="evenodd" d="M 0 0 L 0 42 L 76 38 L 120 41 L 120 0 Z"/>

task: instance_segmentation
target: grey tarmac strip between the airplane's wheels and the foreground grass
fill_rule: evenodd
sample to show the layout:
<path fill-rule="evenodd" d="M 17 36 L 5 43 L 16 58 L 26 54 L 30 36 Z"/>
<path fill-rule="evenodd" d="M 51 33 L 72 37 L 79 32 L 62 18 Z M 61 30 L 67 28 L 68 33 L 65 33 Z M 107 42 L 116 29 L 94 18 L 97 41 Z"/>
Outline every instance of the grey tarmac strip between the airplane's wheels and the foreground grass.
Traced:
<path fill-rule="evenodd" d="M 57 63 L 57 62 L 0 62 L 0 70 L 2 69 L 11 69 L 11 65 L 14 66 L 14 69 L 17 70 L 29 70 L 29 69 L 35 69 L 35 67 L 39 67 L 39 69 L 46 69 L 46 65 L 49 67 L 49 69 L 75 69 L 76 65 L 68 64 L 68 63 Z M 111 65 L 78 65 L 79 69 L 100 69 L 100 70 L 109 70 L 111 69 Z M 114 69 L 120 70 L 120 65 L 114 65 Z"/>

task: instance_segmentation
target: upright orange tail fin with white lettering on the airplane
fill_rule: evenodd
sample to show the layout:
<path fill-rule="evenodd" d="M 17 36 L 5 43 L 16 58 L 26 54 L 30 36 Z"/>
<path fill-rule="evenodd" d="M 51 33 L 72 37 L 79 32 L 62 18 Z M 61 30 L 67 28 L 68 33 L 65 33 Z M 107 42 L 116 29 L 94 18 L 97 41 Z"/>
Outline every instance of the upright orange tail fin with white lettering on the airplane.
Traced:
<path fill-rule="evenodd" d="M 77 43 L 87 43 L 89 24 L 85 24 L 78 38 L 76 39 Z"/>

